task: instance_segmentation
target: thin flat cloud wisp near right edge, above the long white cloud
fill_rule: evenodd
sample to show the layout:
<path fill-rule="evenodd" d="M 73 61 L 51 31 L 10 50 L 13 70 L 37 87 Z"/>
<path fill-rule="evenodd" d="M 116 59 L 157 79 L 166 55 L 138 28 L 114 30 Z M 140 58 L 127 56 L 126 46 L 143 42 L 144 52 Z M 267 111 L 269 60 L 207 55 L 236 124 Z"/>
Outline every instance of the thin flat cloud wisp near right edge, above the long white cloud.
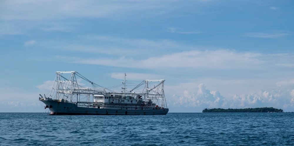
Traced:
<path fill-rule="evenodd" d="M 282 38 L 285 36 L 290 36 L 290 33 L 245 33 L 246 37 L 253 38 Z"/>

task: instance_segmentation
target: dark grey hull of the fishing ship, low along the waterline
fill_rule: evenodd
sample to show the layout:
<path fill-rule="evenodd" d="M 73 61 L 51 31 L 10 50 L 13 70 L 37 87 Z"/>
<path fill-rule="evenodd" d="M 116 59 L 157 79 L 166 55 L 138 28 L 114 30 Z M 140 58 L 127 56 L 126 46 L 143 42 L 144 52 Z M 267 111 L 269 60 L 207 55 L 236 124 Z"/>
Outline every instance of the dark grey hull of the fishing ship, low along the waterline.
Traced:
<path fill-rule="evenodd" d="M 59 102 L 54 100 L 40 100 L 51 111 L 50 115 L 166 115 L 168 108 L 164 109 L 107 109 L 78 107 L 74 103 Z"/>

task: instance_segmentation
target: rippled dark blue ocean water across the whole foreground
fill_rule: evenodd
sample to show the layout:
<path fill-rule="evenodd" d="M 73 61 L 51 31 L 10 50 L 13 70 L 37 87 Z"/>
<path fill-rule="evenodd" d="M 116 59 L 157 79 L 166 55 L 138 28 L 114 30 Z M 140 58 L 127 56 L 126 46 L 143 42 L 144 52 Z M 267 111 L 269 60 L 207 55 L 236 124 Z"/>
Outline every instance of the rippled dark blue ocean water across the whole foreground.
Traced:
<path fill-rule="evenodd" d="M 294 113 L 0 113 L 0 145 L 294 145 Z"/>

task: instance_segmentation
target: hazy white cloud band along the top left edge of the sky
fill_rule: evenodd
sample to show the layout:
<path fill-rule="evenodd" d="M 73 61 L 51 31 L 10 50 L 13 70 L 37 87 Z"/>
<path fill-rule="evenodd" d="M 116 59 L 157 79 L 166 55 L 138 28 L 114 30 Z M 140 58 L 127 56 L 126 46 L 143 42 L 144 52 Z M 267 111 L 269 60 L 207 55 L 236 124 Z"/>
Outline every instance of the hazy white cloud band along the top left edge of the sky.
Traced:
<path fill-rule="evenodd" d="M 0 19 L 13 20 L 49 20 L 66 18 L 120 18 L 134 14 L 166 14 L 177 1 L 3 1 Z M 165 9 L 163 9 L 165 8 Z M 54 10 L 54 11 L 52 11 Z M 149 10 L 152 10 L 150 12 Z M 164 13 L 162 11 L 164 10 Z M 143 15 L 142 15 L 143 16 Z"/>

